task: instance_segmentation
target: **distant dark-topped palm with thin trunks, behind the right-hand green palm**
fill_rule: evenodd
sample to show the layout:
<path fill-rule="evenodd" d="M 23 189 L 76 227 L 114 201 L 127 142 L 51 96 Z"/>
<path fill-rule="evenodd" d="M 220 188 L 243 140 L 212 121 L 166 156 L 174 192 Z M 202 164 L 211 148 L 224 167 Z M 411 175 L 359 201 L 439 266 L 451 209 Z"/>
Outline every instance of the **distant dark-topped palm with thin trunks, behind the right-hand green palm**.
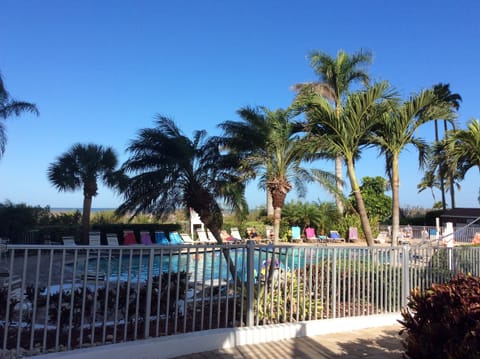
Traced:
<path fill-rule="evenodd" d="M 458 109 L 460 108 L 460 102 L 462 101 L 462 97 L 459 94 L 452 93 L 450 91 L 450 84 L 443 84 L 443 83 L 436 84 L 436 85 L 433 86 L 433 92 L 435 93 L 435 95 L 437 96 L 437 99 L 439 101 L 448 103 L 453 110 L 458 111 Z M 439 142 L 440 139 L 439 139 L 439 135 L 438 135 L 437 119 L 435 119 L 434 123 L 435 123 L 435 142 Z M 447 133 L 447 121 L 446 120 L 443 121 L 443 126 L 444 126 L 444 133 L 446 135 L 446 133 Z M 439 170 L 440 170 L 440 168 L 439 168 Z M 442 195 L 442 208 L 443 208 L 443 210 L 445 210 L 447 208 L 446 200 L 445 200 L 445 176 L 448 177 L 450 183 L 454 182 L 454 178 L 453 178 L 454 175 L 453 174 L 445 174 L 445 173 L 442 173 L 442 171 L 438 172 L 438 177 L 439 177 L 439 182 L 440 182 L 440 191 L 441 191 L 441 195 Z M 455 208 L 455 190 L 454 190 L 454 187 L 455 186 L 450 186 L 450 198 L 451 198 L 451 202 L 452 202 L 451 203 L 452 208 Z"/>

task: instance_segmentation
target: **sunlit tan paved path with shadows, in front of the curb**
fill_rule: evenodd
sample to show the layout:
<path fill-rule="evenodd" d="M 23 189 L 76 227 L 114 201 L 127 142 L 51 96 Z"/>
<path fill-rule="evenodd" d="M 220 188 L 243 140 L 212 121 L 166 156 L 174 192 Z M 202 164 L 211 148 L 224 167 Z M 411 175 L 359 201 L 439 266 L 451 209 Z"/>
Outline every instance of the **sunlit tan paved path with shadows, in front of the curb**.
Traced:
<path fill-rule="evenodd" d="M 301 337 L 190 354 L 177 359 L 402 358 L 400 325 Z"/>

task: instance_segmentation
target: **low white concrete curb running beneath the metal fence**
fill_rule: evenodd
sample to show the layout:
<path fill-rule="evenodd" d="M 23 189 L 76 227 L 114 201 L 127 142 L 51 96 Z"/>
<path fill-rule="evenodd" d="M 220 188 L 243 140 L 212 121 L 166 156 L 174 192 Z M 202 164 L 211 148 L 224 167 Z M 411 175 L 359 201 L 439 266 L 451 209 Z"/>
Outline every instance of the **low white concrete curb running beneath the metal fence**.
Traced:
<path fill-rule="evenodd" d="M 69 352 L 38 355 L 38 359 L 163 359 L 182 355 L 227 349 L 247 344 L 348 332 L 398 324 L 400 313 L 369 315 L 352 318 L 323 319 L 291 324 L 264 325 L 249 328 L 204 330 L 167 337 L 102 345 Z"/>

